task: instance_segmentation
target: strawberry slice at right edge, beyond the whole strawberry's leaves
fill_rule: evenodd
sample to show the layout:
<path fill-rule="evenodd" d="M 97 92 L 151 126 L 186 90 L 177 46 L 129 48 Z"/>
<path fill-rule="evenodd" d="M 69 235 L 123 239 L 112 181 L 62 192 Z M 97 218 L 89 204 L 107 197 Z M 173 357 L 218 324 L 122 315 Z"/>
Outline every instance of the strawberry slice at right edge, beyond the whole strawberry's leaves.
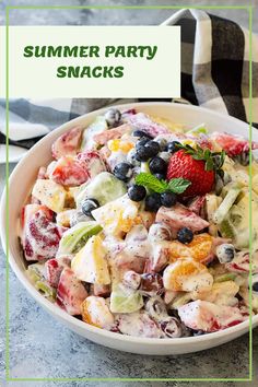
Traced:
<path fill-rule="evenodd" d="M 237 156 L 243 152 L 249 151 L 249 141 L 245 140 L 242 136 L 228 134 L 224 132 L 213 132 L 211 134 L 212 140 L 214 140 L 227 154 L 228 156 Z M 251 149 L 258 149 L 258 143 L 253 142 Z"/>

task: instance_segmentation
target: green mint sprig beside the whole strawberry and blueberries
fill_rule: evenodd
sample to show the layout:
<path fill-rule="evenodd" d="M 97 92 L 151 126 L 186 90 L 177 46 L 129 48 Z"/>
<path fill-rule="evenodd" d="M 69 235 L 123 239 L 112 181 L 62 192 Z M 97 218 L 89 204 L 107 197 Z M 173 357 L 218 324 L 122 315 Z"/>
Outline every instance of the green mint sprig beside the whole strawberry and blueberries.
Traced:
<path fill-rule="evenodd" d="M 152 174 L 141 172 L 136 177 L 136 184 L 139 186 L 144 186 L 145 188 L 157 194 L 172 191 L 174 194 L 179 195 L 185 192 L 185 190 L 190 186 L 191 181 L 183 177 L 173 178 L 169 181 L 160 180 L 157 177 L 153 176 Z"/>

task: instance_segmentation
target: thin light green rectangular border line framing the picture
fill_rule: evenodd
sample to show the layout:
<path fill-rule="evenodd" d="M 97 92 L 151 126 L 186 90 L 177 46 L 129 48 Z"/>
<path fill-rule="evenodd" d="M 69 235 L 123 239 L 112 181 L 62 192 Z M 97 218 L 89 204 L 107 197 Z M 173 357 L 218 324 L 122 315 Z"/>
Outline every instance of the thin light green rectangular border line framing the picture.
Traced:
<path fill-rule="evenodd" d="M 181 9 L 196 9 L 196 10 L 246 10 L 249 15 L 249 144 L 251 145 L 251 130 L 253 130 L 253 52 L 251 52 L 251 34 L 253 34 L 253 5 L 7 5 L 5 7 L 5 45 L 7 45 L 7 80 L 5 80 L 5 125 L 7 125 L 7 164 L 5 164 L 5 192 L 7 192 L 7 208 L 5 208 L 5 225 L 7 225 L 7 324 L 5 324 L 5 380 L 7 382 L 253 382 L 253 327 L 251 314 L 249 316 L 249 376 L 247 378 L 119 378 L 119 377 L 11 377 L 10 376 L 10 302 L 9 302 L 9 15 L 10 10 L 181 10 Z M 250 146 L 251 160 L 251 146 Z M 251 253 L 251 164 L 249 164 L 249 251 Z M 251 256 L 251 255 L 250 255 Z M 249 310 L 251 312 L 251 259 L 250 259 L 250 273 L 249 273 Z"/>

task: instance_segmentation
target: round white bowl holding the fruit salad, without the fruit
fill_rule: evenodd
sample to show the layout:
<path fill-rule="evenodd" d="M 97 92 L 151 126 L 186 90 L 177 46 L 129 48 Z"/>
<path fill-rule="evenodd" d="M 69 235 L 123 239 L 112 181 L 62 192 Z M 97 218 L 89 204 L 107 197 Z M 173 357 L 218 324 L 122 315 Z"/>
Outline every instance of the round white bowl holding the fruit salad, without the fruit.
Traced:
<path fill-rule="evenodd" d="M 213 113 L 200 107 L 171 103 L 139 103 L 120 105 L 118 107 L 121 109 L 136 107 L 139 112 L 168 118 L 175 122 L 180 122 L 188 127 L 194 127 L 206 122 L 210 131 L 227 131 L 243 134 L 248 138 L 248 125 L 233 117 Z M 144 339 L 122 336 L 93 327 L 72 316 L 69 316 L 64 310 L 60 309 L 58 306 L 44 298 L 44 296 L 40 295 L 28 281 L 25 274 L 25 262 L 17 238 L 17 224 L 21 208 L 31 192 L 32 186 L 37 176 L 37 169 L 39 166 L 47 165 L 49 163 L 51 160 L 51 144 L 61 133 L 68 129 L 71 129 L 75 125 L 82 125 L 86 127 L 97 115 L 102 114 L 104 110 L 105 109 L 99 109 L 75 118 L 50 132 L 28 151 L 28 153 L 13 171 L 9 180 L 9 261 L 16 277 L 26 288 L 28 293 L 55 318 L 62 321 L 77 333 L 96 343 L 120 351 L 157 355 L 189 353 L 225 343 L 247 332 L 249 328 L 249 320 L 222 331 L 190 338 Z M 253 138 L 254 140 L 258 141 L 258 133 L 255 130 Z M 7 241 L 5 200 L 5 192 L 3 192 L 1 199 L 0 218 L 1 241 L 3 248 L 5 248 Z M 254 326 L 258 325 L 258 316 L 253 318 L 253 324 Z"/>

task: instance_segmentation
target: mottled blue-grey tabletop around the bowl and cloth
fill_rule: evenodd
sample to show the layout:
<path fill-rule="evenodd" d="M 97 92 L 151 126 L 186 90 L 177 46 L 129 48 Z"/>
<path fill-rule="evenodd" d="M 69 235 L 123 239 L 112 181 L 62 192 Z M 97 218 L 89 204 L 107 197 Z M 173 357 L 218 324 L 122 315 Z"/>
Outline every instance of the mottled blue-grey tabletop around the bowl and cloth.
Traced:
<path fill-rule="evenodd" d="M 250 3 L 251 1 L 249 1 Z M 0 10 L 7 1 L 0 2 Z M 157 4 L 155 1 L 48 1 L 13 0 L 15 4 Z M 162 4 L 180 4 L 180 1 L 164 0 Z M 196 1 L 186 0 L 184 4 Z M 207 4 L 200 0 L 198 4 Z M 245 4 L 248 1 L 209 1 L 209 4 Z M 257 0 L 253 1 L 257 4 Z M 11 24 L 159 24 L 173 11 L 30 11 L 26 17 L 21 11 L 12 11 Z M 212 11 L 247 26 L 245 11 Z M 43 16 L 44 15 L 44 16 Z M 0 24 L 4 19 L 0 16 Z M 258 31 L 257 17 L 254 30 Z M 12 169 L 12 168 L 11 168 Z M 0 166 L 0 192 L 4 186 L 4 166 Z M 17 192 L 19 195 L 19 192 Z M 4 326 L 5 326 L 5 257 L 0 249 L 0 385 L 4 385 Z M 246 377 L 248 374 L 248 335 L 227 344 L 208 351 L 177 356 L 141 356 L 106 349 L 71 332 L 56 321 L 31 298 L 25 289 L 10 270 L 10 376 L 11 377 Z M 258 378 L 258 330 L 254 331 L 254 374 Z M 106 386 L 107 383 L 80 382 L 9 382 L 8 386 Z M 112 383 L 116 386 L 138 386 L 140 383 Z M 141 383 L 145 386 L 185 386 L 185 383 Z M 191 386 L 195 383 L 190 384 Z M 213 386 L 239 386 L 244 383 L 213 383 Z M 248 383 L 255 386 L 255 382 Z M 188 384 L 189 386 L 189 384 Z"/>

